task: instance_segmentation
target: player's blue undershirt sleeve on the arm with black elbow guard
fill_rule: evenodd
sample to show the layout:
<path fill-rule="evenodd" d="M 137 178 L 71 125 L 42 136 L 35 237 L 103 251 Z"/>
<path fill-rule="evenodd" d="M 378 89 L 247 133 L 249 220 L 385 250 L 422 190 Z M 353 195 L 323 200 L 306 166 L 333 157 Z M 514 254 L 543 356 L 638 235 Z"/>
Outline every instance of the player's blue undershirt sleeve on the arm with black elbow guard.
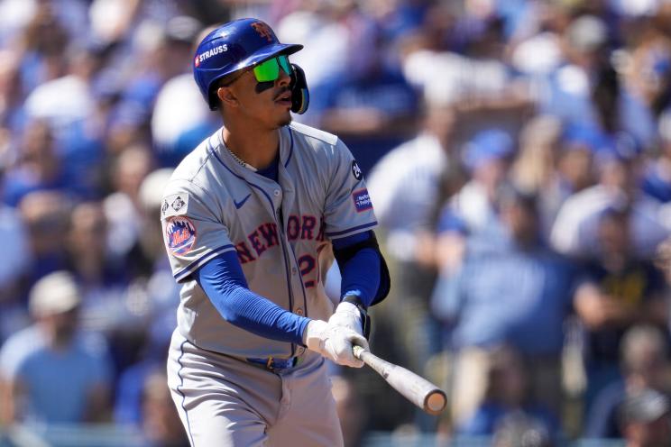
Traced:
<path fill-rule="evenodd" d="M 356 243 L 367 241 L 371 232 L 357 233 L 333 242 L 334 249 L 342 250 Z M 365 306 L 371 306 L 380 287 L 380 253 L 370 247 L 357 251 L 344 265 L 338 262 L 342 281 L 340 296 L 356 295 Z"/>

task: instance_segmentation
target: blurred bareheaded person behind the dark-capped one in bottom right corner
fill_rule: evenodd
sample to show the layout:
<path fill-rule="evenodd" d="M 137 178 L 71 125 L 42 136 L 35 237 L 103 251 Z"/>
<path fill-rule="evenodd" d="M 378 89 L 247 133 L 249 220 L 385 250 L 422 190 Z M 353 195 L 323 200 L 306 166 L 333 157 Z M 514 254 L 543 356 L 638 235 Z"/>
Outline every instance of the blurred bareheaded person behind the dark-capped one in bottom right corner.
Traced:
<path fill-rule="evenodd" d="M 648 388 L 666 395 L 671 391 L 667 379 L 668 342 L 657 327 L 632 327 L 622 337 L 620 352 L 623 377 L 604 387 L 594 399 L 584 430 L 588 437 L 623 437 L 619 411 L 627 397 Z"/>

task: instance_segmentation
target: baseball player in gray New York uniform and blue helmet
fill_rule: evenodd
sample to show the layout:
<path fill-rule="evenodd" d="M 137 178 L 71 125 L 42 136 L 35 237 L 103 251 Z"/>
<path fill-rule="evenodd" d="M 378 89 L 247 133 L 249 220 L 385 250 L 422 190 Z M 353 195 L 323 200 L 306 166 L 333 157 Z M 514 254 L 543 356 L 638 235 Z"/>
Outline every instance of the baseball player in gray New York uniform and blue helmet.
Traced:
<path fill-rule="evenodd" d="M 192 446 L 342 445 L 326 359 L 359 368 L 389 273 L 361 170 L 298 123 L 308 87 L 256 19 L 200 42 L 194 77 L 224 126 L 175 169 L 161 223 L 182 285 L 169 385 Z M 178 105 L 179 106 L 179 105 Z M 334 260 L 342 298 L 324 292 Z"/>

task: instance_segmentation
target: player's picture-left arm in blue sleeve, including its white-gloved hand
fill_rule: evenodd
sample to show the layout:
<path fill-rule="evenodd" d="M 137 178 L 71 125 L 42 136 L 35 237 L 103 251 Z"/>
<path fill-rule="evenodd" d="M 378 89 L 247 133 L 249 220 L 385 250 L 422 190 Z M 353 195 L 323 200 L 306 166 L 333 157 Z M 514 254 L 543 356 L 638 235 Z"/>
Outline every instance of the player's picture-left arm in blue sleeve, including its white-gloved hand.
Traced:
<path fill-rule="evenodd" d="M 230 324 L 265 338 L 307 346 L 341 365 L 363 366 L 363 361 L 352 353 L 353 344 L 368 347 L 360 334 L 293 314 L 255 294 L 247 286 L 234 251 L 207 261 L 194 277 L 219 314 Z"/>

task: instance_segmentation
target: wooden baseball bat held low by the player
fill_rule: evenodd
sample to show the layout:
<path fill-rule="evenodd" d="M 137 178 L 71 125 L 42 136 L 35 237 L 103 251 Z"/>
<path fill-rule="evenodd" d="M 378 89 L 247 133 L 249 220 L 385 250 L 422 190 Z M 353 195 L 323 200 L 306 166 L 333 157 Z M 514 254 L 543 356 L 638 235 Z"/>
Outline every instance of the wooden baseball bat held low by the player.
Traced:
<path fill-rule="evenodd" d="M 429 415 L 439 415 L 447 405 L 445 391 L 438 388 L 414 372 L 394 365 L 387 360 L 366 351 L 361 346 L 354 346 L 354 357 L 370 366 L 382 376 L 391 388 L 397 390 L 403 397 L 426 411 Z"/>

